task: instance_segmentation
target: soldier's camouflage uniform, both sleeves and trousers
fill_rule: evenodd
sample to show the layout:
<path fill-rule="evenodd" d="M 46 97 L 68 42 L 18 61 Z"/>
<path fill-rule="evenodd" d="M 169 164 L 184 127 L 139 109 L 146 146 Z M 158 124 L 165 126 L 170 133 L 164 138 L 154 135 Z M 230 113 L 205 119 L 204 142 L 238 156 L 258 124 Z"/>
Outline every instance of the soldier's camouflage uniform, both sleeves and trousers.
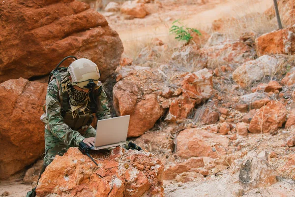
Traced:
<path fill-rule="evenodd" d="M 45 157 L 44 165 L 50 164 L 56 155 L 62 156 L 69 147 L 78 146 L 88 137 L 95 137 L 95 129 L 89 126 L 87 129 L 74 131 L 63 121 L 61 105 L 58 98 L 57 80 L 53 79 L 47 88 L 46 112 L 41 120 L 45 123 Z M 102 90 L 97 99 L 96 117 L 98 120 L 111 118 L 107 96 Z M 69 109 L 70 110 L 70 109 Z M 86 130 L 86 131 L 85 131 Z"/>

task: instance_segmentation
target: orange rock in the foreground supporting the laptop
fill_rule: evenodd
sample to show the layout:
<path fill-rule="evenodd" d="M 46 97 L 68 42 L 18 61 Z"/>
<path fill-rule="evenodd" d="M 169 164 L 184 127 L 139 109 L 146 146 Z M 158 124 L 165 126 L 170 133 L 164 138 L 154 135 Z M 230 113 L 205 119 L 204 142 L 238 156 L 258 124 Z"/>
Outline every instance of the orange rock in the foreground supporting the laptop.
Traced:
<path fill-rule="evenodd" d="M 163 196 L 164 165 L 151 153 L 117 147 L 92 157 L 98 166 L 78 148 L 56 156 L 39 180 L 37 196 Z"/>

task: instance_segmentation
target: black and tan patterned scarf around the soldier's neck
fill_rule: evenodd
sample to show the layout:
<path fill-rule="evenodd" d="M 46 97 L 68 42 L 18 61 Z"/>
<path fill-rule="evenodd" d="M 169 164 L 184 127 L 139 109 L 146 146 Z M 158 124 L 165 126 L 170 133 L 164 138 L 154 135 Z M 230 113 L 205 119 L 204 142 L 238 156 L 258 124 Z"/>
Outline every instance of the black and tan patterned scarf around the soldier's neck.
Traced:
<path fill-rule="evenodd" d="M 73 118 L 76 118 L 78 113 L 88 109 L 89 92 L 82 92 L 76 90 L 69 79 L 70 73 L 68 71 L 60 72 L 62 92 L 67 92 L 70 98 L 70 106 Z"/>

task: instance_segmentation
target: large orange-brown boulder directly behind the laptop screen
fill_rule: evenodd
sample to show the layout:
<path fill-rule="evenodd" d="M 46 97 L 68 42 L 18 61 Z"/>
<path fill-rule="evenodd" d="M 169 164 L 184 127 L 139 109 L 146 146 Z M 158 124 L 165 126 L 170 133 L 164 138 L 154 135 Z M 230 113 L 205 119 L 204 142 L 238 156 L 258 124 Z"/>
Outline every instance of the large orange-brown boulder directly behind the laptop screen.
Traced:
<path fill-rule="evenodd" d="M 137 102 L 134 94 L 136 87 L 129 89 L 130 84 L 119 81 L 113 89 L 114 108 L 118 116 L 130 115 L 127 137 L 138 137 L 151 129 L 155 122 L 162 116 L 163 108 L 159 105 L 155 94 L 145 95 L 144 99 Z"/>

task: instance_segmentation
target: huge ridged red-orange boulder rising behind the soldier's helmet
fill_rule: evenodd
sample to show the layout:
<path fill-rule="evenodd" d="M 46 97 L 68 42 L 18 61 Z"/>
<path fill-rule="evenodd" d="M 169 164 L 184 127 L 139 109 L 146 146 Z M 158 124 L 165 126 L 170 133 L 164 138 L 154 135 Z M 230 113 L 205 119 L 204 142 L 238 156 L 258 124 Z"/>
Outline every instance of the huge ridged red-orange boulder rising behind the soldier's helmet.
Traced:
<path fill-rule="evenodd" d="M 69 55 L 96 63 L 102 81 L 119 64 L 123 45 L 118 33 L 86 3 L 5 0 L 0 15 L 0 83 L 46 75 Z"/>

